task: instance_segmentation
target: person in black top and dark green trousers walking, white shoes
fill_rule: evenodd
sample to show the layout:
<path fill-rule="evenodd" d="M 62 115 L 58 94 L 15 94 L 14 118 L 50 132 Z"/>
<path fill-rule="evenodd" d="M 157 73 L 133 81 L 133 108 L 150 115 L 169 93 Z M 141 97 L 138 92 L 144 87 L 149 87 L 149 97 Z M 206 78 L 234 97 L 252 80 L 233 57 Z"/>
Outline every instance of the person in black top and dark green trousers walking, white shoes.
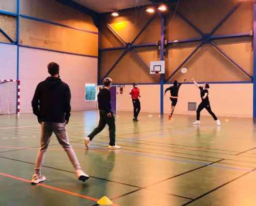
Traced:
<path fill-rule="evenodd" d="M 98 93 L 98 105 L 99 105 L 99 125 L 96 127 L 91 134 L 84 139 L 85 147 L 89 148 L 89 143 L 93 140 L 94 136 L 100 133 L 104 127 L 108 124 L 109 126 L 109 149 L 120 149 L 121 147 L 115 144 L 115 117 L 112 112 L 111 107 L 111 93 L 109 89 L 111 88 L 111 78 L 106 78 L 103 80 L 104 88 Z"/>

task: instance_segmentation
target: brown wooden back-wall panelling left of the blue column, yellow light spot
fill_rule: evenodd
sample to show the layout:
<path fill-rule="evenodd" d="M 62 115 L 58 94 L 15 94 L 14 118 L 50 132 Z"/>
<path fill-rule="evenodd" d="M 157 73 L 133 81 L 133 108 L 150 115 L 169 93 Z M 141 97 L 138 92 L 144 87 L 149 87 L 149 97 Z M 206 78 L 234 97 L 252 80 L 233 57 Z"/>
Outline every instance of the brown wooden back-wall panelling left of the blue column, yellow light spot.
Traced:
<path fill-rule="evenodd" d="M 135 17 L 137 12 L 137 18 Z M 100 30 L 100 48 L 124 46 L 125 44 L 109 29 L 107 23 L 121 36 L 127 43 L 132 42 L 142 28 L 146 25 L 152 14 L 146 13 L 144 9 L 119 12 L 121 15 L 114 18 L 111 15 L 104 16 Z M 155 30 L 153 30 L 153 28 Z M 157 35 L 157 33 L 159 35 Z M 133 44 L 155 43 L 160 38 L 160 18 L 158 15 L 150 22 L 147 28 L 141 33 Z M 159 59 L 157 46 L 134 48 L 135 52 L 150 65 L 150 61 Z M 125 49 L 104 51 L 100 53 L 100 78 L 102 78 L 122 55 Z M 136 57 L 133 52 L 128 51 L 126 55 L 117 63 L 109 76 L 114 83 L 132 82 L 159 82 L 154 76 L 149 74 L 148 68 Z"/>

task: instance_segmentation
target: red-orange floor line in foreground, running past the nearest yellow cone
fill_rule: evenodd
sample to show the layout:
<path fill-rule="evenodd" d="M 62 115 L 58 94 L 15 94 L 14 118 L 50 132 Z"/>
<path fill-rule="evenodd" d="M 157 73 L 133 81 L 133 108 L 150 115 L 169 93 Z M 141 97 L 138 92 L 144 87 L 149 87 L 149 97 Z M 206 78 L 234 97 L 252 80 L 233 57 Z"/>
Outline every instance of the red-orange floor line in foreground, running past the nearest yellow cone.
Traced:
<path fill-rule="evenodd" d="M 13 179 L 16 179 L 16 180 L 21 180 L 23 182 L 31 183 L 31 181 L 29 181 L 29 180 L 26 180 L 26 179 L 23 179 L 23 178 L 20 178 L 20 177 L 16 177 L 16 176 L 12 176 L 12 175 L 7 175 L 5 173 L 0 173 L 0 175 L 6 176 L 6 177 L 9 177 L 9 178 L 13 178 Z M 47 188 L 50 188 L 52 190 L 56 190 L 56 191 L 59 191 L 59 192 L 67 193 L 67 194 L 70 194 L 70 195 L 74 195 L 74 196 L 78 196 L 78 197 L 83 197 L 85 199 L 89 199 L 89 200 L 93 200 L 93 201 L 98 201 L 99 200 L 99 199 L 96 199 L 96 198 L 93 198 L 93 197 L 88 197 L 88 196 L 85 196 L 85 195 L 80 195 L 78 193 L 73 193 L 73 192 L 70 192 L 70 191 L 62 190 L 60 188 L 49 186 L 49 185 L 46 185 L 46 184 L 40 184 L 39 183 L 37 185 L 40 185 L 40 186 L 43 186 L 43 187 L 47 187 Z M 113 205 L 113 206 L 120 206 L 118 204 L 111 204 L 111 205 Z"/>

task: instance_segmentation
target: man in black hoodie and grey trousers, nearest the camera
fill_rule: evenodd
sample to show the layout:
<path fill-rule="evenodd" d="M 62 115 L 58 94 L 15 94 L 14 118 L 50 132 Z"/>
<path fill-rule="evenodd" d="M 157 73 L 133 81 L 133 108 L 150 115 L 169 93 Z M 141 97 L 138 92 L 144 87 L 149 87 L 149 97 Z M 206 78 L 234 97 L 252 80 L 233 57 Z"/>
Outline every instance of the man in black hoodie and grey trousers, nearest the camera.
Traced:
<path fill-rule="evenodd" d="M 37 85 L 32 100 L 33 113 L 37 116 L 42 130 L 41 147 L 37 154 L 35 174 L 32 176 L 32 183 L 37 184 L 46 180 L 46 177 L 41 175 L 40 170 L 53 132 L 59 144 L 61 144 L 67 152 L 70 161 L 76 169 L 79 180 L 84 182 L 89 176 L 82 171 L 76 154 L 69 144 L 66 131 L 66 125 L 69 122 L 71 111 L 70 89 L 68 84 L 64 83 L 59 78 L 58 64 L 54 62 L 49 63 L 48 73 L 51 77 L 48 77 Z"/>

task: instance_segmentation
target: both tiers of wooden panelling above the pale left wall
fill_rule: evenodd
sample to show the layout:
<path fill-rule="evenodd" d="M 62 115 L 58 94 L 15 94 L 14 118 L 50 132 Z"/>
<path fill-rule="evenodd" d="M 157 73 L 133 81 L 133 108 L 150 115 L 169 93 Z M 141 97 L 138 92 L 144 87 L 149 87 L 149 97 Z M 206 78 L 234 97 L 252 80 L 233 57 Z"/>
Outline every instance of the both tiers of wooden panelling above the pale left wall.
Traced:
<path fill-rule="evenodd" d="M 98 32 L 91 16 L 54 0 L 21 0 L 21 14 Z M 98 56 L 98 35 L 21 18 L 20 44 L 61 52 Z"/>

